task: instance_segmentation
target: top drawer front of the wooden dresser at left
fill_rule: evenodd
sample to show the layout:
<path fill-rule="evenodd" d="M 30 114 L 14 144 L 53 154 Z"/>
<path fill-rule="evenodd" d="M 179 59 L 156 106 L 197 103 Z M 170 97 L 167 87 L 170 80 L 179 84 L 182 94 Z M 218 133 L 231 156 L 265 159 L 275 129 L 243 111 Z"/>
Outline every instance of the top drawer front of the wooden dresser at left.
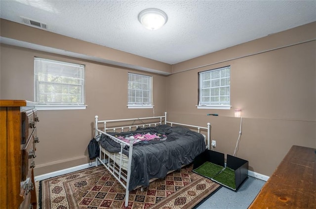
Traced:
<path fill-rule="evenodd" d="M 39 118 L 37 116 L 37 110 L 26 110 L 21 112 L 22 115 L 22 138 L 21 144 L 27 144 L 31 134 L 36 128 Z"/>

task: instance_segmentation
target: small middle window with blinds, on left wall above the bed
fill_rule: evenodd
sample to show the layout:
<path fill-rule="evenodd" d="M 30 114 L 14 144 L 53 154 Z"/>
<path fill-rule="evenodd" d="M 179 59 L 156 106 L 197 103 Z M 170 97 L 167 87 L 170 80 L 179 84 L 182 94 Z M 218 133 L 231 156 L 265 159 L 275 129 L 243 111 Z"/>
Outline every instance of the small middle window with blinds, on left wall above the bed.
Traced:
<path fill-rule="evenodd" d="M 152 77 L 128 73 L 128 108 L 153 108 Z"/>

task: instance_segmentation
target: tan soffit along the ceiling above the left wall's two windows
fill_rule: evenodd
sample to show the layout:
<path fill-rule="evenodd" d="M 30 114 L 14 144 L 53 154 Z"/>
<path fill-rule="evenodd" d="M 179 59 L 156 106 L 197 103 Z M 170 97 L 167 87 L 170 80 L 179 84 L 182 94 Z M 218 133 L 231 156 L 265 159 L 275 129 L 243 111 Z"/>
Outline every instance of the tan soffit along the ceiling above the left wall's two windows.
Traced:
<path fill-rule="evenodd" d="M 120 66 L 147 68 L 153 70 L 152 72 L 162 74 L 171 73 L 171 65 L 160 61 L 143 58 L 109 47 L 81 41 L 79 39 L 49 32 L 47 30 L 40 30 L 4 19 L 0 19 L 0 26 L 1 37 L 4 38 L 53 48 L 63 52 L 77 53 L 97 59 L 98 61 L 104 60 L 106 63 L 115 62 L 117 64 L 122 64 Z"/>

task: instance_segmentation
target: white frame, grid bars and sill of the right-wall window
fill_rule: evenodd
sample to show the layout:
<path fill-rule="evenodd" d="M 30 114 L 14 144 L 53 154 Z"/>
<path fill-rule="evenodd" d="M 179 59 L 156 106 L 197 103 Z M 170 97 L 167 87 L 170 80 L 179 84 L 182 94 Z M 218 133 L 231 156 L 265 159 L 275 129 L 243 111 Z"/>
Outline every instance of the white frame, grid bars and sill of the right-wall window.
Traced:
<path fill-rule="evenodd" d="M 221 75 L 221 70 L 226 70 L 226 69 L 229 69 L 229 76 L 223 76 Z M 219 71 L 220 72 L 220 75 L 219 77 L 216 77 L 216 78 L 211 78 L 211 75 L 210 75 L 210 78 L 208 79 L 210 81 L 210 87 L 207 87 L 207 88 L 203 88 L 203 81 L 207 81 L 207 80 L 203 80 L 202 78 L 202 74 L 206 74 L 206 73 L 214 73 L 216 71 Z M 221 79 L 227 79 L 229 78 L 229 85 L 221 85 Z M 212 81 L 215 81 L 215 80 L 219 80 L 219 86 L 216 86 L 216 87 L 212 87 Z M 219 68 L 215 68 L 215 69 L 211 69 L 211 70 L 206 70 L 206 71 L 202 71 L 202 72 L 198 72 L 198 105 L 196 106 L 197 109 L 219 109 L 219 110 L 230 110 L 231 109 L 231 66 L 228 65 L 228 66 L 224 66 L 224 67 L 219 67 Z M 227 88 L 229 87 L 229 95 L 225 94 L 225 95 L 221 95 L 220 93 L 220 89 L 221 88 Z M 220 99 L 221 96 L 229 96 L 229 102 L 224 102 L 224 103 L 221 103 L 220 101 L 218 103 L 214 103 L 214 104 L 211 104 L 211 102 L 209 102 L 208 104 L 206 104 L 205 102 L 201 102 L 201 99 L 202 99 L 202 89 L 209 89 L 210 91 L 210 98 L 212 97 L 211 96 L 211 89 L 219 89 L 218 90 L 218 97 Z M 226 91 L 226 90 L 225 90 Z M 215 97 L 215 96 L 214 96 Z"/>

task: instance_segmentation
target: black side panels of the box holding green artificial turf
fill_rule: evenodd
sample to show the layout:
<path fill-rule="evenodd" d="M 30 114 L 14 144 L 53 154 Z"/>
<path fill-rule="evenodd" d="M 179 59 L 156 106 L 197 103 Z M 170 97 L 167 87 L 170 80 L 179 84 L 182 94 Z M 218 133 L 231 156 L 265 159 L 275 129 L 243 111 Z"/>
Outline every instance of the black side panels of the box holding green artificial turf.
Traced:
<path fill-rule="evenodd" d="M 206 149 L 204 152 L 202 152 L 195 158 L 194 164 L 193 164 L 193 170 L 203 165 L 206 161 L 222 166 L 224 169 L 225 168 L 224 158 L 225 158 L 224 153 Z M 227 154 L 226 167 L 231 168 L 235 171 L 235 183 L 236 183 L 235 188 L 236 189 L 231 188 L 219 181 L 216 181 L 216 182 L 234 191 L 237 191 L 238 188 L 241 186 L 241 184 L 248 178 L 248 161 L 232 156 L 230 154 Z M 213 178 L 210 178 L 210 179 L 214 180 Z"/>

